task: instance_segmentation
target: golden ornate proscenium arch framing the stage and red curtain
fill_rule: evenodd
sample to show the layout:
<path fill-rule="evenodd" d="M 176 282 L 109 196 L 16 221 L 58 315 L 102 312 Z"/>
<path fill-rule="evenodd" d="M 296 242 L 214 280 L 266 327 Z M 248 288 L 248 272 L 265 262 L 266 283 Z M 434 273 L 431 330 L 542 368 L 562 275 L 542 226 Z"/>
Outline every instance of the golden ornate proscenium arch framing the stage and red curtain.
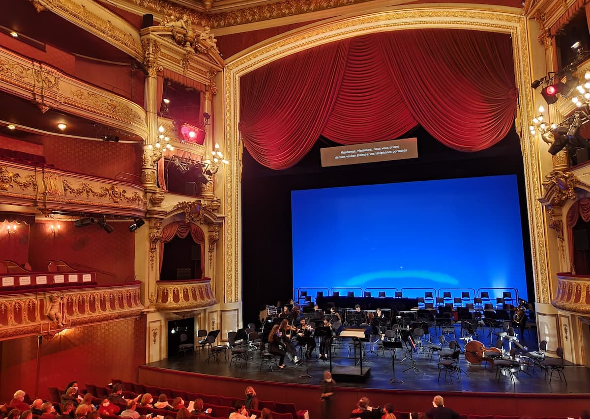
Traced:
<path fill-rule="evenodd" d="M 240 133 L 240 78 L 250 71 L 270 64 L 296 52 L 339 41 L 385 31 L 420 28 L 466 29 L 509 34 L 512 39 L 514 78 L 518 88 L 516 129 L 521 134 L 521 148 L 525 168 L 526 200 L 533 256 L 535 297 L 540 303 L 550 303 L 548 259 L 546 249 L 545 214 L 536 197 L 542 195 L 540 186 L 539 147 L 535 137 L 528 133 L 527 121 L 533 117 L 533 98 L 530 88 L 530 48 L 527 41 L 527 19 L 521 9 L 495 8 L 473 5 L 473 8 L 424 7 L 381 10 L 373 14 L 349 16 L 316 22 L 267 39 L 248 50 L 230 57 L 224 69 L 225 144 L 231 156 L 230 170 L 226 171 L 225 208 L 227 235 L 225 242 L 225 269 L 228 285 L 231 283 L 232 301 L 241 294 L 241 152 Z M 227 291 L 230 291 L 228 286 Z"/>

